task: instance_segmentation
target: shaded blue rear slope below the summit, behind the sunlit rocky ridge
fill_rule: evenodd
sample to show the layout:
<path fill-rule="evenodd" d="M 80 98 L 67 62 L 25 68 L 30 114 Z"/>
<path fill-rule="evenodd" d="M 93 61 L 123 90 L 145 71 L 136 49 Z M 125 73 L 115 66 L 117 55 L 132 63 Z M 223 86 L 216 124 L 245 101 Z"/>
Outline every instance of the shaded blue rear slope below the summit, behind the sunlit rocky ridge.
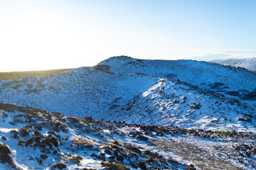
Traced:
<path fill-rule="evenodd" d="M 100 64 L 110 66 L 110 72 L 114 73 L 141 72 L 170 77 L 247 103 L 256 100 L 256 75 L 247 69 L 193 60 L 137 60 L 130 57 L 111 57 Z"/>

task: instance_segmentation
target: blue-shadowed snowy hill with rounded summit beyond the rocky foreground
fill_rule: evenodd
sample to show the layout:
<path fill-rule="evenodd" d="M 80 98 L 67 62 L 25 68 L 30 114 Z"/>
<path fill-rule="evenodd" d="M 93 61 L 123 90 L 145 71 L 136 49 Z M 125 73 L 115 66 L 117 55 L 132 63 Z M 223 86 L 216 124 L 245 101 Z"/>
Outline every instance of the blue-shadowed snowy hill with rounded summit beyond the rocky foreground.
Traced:
<path fill-rule="evenodd" d="M 0 101 L 79 118 L 255 132 L 255 84 L 256 75 L 242 68 L 111 57 L 95 67 L 1 81 Z"/>

